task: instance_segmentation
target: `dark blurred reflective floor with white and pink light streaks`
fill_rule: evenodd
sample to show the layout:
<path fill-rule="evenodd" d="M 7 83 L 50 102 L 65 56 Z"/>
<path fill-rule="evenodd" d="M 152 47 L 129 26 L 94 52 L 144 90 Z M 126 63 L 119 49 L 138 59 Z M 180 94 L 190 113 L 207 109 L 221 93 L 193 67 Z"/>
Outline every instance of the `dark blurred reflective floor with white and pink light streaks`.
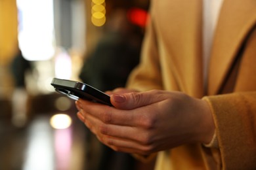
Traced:
<path fill-rule="evenodd" d="M 77 118 L 74 101 L 71 109 L 64 112 L 72 120 L 71 126 L 65 129 L 55 129 L 51 123 L 54 114 L 63 113 L 53 103 L 67 105 L 65 100 L 60 101 L 60 96 L 47 95 L 32 101 L 30 110 L 33 114 L 28 116 L 28 122 L 22 127 L 14 126 L 7 114 L 11 104 L 0 101 L 0 170 L 154 168 L 154 162 L 140 163 L 129 154 L 114 152 L 100 144 Z M 60 120 L 60 124 L 64 124 L 64 120 Z"/>

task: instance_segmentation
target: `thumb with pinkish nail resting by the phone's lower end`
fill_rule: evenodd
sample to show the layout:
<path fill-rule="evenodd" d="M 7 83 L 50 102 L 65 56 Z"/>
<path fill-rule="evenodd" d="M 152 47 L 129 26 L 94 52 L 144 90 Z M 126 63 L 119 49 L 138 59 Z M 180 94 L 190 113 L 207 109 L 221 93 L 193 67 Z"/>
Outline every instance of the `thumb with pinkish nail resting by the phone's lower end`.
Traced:
<path fill-rule="evenodd" d="M 117 109 L 131 110 L 155 103 L 152 92 L 132 92 L 110 95 L 110 101 Z"/>

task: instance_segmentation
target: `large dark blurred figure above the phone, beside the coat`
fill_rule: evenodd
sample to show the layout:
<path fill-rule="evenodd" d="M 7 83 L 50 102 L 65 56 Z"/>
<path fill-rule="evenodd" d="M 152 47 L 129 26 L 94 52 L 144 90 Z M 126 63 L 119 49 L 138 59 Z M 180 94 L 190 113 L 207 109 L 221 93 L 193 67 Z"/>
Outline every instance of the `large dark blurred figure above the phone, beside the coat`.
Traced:
<path fill-rule="evenodd" d="M 117 9 L 106 23 L 106 33 L 86 58 L 80 78 L 102 91 L 125 84 L 139 63 L 142 31 L 127 20 L 126 11 Z"/>

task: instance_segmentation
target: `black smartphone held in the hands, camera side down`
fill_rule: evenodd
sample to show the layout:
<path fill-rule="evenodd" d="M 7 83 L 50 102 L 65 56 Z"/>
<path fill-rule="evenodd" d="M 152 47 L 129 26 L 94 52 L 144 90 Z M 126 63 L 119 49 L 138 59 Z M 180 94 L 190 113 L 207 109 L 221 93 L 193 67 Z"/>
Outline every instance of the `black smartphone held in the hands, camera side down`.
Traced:
<path fill-rule="evenodd" d="M 83 82 L 53 78 L 51 85 L 56 92 L 67 95 L 71 99 L 87 99 L 89 101 L 112 106 L 109 95 Z"/>

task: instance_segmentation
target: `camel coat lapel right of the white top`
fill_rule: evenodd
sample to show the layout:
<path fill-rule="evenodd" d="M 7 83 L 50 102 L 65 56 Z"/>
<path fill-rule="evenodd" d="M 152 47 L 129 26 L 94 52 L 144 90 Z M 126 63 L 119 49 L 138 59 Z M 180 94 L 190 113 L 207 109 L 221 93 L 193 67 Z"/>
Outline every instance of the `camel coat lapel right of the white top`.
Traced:
<path fill-rule="evenodd" d="M 219 92 L 247 33 L 256 24 L 255 0 L 224 0 L 209 63 L 209 95 Z"/>

